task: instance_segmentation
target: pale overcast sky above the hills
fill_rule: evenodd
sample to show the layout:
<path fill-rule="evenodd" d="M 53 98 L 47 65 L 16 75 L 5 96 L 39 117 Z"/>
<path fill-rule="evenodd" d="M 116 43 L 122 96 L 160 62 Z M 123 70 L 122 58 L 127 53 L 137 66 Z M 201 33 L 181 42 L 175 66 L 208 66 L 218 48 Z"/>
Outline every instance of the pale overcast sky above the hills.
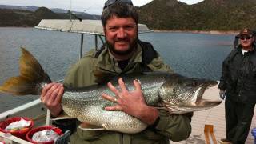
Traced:
<path fill-rule="evenodd" d="M 152 0 L 132 0 L 134 6 L 143 6 Z M 178 0 L 187 4 L 202 2 L 203 0 Z M 45 6 L 47 8 L 61 8 L 65 10 L 84 11 L 88 14 L 102 14 L 102 7 L 106 0 L 0 0 L 0 5 L 14 6 Z"/>

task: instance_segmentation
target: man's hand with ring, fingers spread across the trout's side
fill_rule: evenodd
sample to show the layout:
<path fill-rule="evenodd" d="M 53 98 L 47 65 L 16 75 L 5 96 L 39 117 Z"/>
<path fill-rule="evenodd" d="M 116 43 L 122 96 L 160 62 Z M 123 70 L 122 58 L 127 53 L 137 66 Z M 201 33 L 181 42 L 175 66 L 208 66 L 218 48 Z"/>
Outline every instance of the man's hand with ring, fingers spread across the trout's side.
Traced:
<path fill-rule="evenodd" d="M 118 79 L 118 84 L 121 91 L 117 90 L 110 82 L 107 86 L 115 94 L 116 98 L 111 97 L 108 94 L 102 94 L 102 97 L 111 102 L 117 103 L 115 106 L 107 106 L 105 110 L 120 110 L 140 119 L 142 122 L 146 122 L 148 125 L 154 123 L 158 118 L 158 110 L 152 106 L 147 106 L 142 94 L 142 88 L 137 80 L 134 80 L 134 90 L 128 91 L 126 84 L 122 81 L 122 78 Z"/>

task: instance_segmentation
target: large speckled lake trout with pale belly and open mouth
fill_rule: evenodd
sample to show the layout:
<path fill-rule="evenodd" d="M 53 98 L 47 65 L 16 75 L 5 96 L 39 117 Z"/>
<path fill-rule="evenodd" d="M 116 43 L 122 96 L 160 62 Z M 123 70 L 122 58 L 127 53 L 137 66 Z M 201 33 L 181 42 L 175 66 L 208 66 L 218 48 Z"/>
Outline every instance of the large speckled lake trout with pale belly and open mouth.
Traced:
<path fill-rule="evenodd" d="M 206 110 L 222 102 L 202 98 L 207 88 L 217 85 L 216 81 L 169 73 L 127 74 L 122 78 L 128 90 L 134 90 L 133 80 L 137 79 L 141 83 L 147 105 L 166 110 L 170 114 Z M 22 48 L 20 75 L 4 82 L 0 91 L 14 95 L 41 94 L 42 87 L 50 82 L 38 61 Z M 117 78 L 110 82 L 118 87 Z M 65 88 L 62 109 L 70 118 L 78 118 L 81 122 L 102 126 L 106 130 L 132 134 L 146 129 L 146 123 L 122 111 L 104 110 L 106 106 L 114 106 L 115 103 L 103 99 L 102 93 L 114 95 L 106 84 Z"/>

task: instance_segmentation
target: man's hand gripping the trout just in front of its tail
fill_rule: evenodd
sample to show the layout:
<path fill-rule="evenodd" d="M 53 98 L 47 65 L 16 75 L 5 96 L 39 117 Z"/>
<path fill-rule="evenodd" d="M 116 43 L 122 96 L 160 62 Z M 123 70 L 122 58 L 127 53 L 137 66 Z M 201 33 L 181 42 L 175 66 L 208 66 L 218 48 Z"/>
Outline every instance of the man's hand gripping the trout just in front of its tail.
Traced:
<path fill-rule="evenodd" d="M 64 86 L 61 83 L 50 83 L 43 87 L 40 99 L 50 110 L 50 114 L 58 116 L 62 112 L 61 99 Z"/>

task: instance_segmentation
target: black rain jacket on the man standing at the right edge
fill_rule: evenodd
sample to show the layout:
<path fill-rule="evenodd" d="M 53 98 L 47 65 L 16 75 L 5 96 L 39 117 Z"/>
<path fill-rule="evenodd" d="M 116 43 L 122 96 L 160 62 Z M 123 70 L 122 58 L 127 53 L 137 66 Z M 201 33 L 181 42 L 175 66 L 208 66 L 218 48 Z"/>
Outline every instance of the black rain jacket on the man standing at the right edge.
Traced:
<path fill-rule="evenodd" d="M 222 77 L 218 85 L 226 90 L 226 98 L 235 102 L 256 102 L 256 52 L 242 54 L 242 47 L 232 50 L 222 63 Z"/>

